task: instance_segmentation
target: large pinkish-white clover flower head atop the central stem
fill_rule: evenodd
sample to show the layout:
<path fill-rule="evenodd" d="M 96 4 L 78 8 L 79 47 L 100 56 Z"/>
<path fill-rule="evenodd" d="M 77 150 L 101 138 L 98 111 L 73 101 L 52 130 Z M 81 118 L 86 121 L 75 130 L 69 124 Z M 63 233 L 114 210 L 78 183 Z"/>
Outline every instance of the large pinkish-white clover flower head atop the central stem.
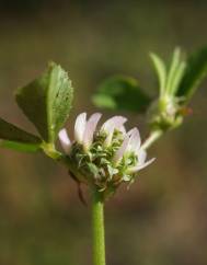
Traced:
<path fill-rule="evenodd" d="M 59 140 L 72 174 L 108 194 L 123 182 L 134 182 L 138 171 L 153 159 L 146 161 L 147 152 L 137 128 L 126 132 L 127 118 L 114 116 L 97 127 L 101 116 L 94 113 L 87 119 L 87 113 L 78 115 L 73 141 L 66 129 L 60 130 Z"/>

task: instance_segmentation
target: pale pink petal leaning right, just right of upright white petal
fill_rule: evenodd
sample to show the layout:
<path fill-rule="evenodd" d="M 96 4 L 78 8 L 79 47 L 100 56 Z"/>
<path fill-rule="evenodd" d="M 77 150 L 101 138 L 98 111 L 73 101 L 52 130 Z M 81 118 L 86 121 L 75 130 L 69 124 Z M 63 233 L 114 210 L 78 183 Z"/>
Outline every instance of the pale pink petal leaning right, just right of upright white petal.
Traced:
<path fill-rule="evenodd" d="M 96 129 L 97 123 L 101 118 L 102 114 L 101 113 L 94 113 L 91 115 L 89 120 L 87 122 L 84 135 L 83 135 L 83 146 L 85 149 L 89 149 L 93 141 L 93 135 Z"/>

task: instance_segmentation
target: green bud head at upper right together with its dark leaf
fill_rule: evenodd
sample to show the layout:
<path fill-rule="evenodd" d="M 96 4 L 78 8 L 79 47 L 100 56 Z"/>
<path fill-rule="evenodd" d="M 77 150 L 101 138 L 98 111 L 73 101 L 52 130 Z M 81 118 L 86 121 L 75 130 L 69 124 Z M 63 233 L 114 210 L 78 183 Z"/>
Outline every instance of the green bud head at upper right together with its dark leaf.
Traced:
<path fill-rule="evenodd" d="M 159 97 L 149 107 L 148 122 L 152 130 L 166 131 L 180 126 L 191 114 L 187 105 L 207 74 L 207 49 L 186 57 L 175 48 L 170 64 L 156 54 L 150 54 L 150 57 L 159 81 Z"/>

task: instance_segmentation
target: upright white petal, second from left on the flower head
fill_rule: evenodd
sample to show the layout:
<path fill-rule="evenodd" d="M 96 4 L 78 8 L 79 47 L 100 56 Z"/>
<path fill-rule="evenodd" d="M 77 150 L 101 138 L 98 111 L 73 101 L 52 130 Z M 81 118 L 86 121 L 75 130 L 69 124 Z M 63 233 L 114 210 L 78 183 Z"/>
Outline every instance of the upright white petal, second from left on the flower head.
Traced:
<path fill-rule="evenodd" d="M 87 113 L 81 113 L 78 115 L 74 123 L 74 140 L 79 143 L 83 141 L 83 135 L 87 125 Z"/>

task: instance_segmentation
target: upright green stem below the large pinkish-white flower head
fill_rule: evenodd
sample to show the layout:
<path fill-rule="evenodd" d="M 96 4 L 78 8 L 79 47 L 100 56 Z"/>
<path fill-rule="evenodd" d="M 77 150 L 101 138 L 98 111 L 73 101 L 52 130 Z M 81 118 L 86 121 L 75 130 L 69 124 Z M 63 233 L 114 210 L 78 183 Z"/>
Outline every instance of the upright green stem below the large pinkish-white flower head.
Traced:
<path fill-rule="evenodd" d="M 105 265 L 104 201 L 92 193 L 93 265 Z"/>

